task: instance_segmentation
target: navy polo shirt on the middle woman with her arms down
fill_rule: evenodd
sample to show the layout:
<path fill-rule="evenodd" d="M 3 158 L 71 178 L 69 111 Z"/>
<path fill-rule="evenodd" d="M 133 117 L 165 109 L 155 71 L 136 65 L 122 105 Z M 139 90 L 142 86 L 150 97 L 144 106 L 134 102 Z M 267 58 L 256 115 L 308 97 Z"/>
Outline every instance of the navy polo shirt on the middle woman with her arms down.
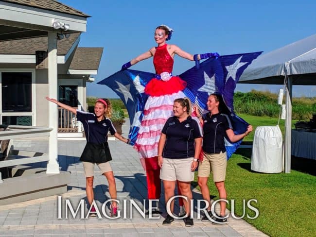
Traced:
<path fill-rule="evenodd" d="M 200 125 L 191 116 L 183 122 L 176 116 L 170 117 L 161 132 L 166 135 L 162 156 L 172 159 L 194 157 L 194 139 L 203 136 Z"/>

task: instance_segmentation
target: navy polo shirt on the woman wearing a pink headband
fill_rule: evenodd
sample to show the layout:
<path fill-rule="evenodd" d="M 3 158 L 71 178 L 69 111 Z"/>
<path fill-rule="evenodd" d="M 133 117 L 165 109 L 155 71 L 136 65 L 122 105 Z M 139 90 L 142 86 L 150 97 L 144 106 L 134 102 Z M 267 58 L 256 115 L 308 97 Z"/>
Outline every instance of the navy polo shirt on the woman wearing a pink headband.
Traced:
<path fill-rule="evenodd" d="M 116 133 L 110 119 L 98 121 L 95 114 L 77 110 L 77 119 L 82 122 L 87 142 L 101 144 L 107 141 L 107 134 L 110 131 L 111 135 Z"/>

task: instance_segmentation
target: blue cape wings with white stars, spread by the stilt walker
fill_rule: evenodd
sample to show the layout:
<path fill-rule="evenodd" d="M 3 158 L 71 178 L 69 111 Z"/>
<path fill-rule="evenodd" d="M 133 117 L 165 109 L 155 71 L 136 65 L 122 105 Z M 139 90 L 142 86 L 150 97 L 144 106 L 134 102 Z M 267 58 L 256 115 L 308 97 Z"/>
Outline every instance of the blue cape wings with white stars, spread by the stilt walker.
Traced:
<path fill-rule="evenodd" d="M 187 87 L 183 91 L 184 94 L 198 106 L 201 114 L 208 112 L 206 102 L 210 94 L 222 95 L 226 105 L 222 112 L 228 115 L 234 133 L 244 133 L 248 123 L 234 113 L 234 90 L 243 71 L 261 53 L 224 55 L 205 60 L 200 63 L 199 68 L 194 66 L 179 75 L 187 83 Z M 143 109 L 148 98 L 148 95 L 144 93 L 144 88 L 154 77 L 154 73 L 127 69 L 118 71 L 98 82 L 98 84 L 107 85 L 114 90 L 124 102 L 131 124 L 128 135 L 131 145 L 135 144 L 143 117 Z M 226 137 L 225 145 L 228 158 L 237 150 L 241 142 L 240 140 L 232 143 Z"/>

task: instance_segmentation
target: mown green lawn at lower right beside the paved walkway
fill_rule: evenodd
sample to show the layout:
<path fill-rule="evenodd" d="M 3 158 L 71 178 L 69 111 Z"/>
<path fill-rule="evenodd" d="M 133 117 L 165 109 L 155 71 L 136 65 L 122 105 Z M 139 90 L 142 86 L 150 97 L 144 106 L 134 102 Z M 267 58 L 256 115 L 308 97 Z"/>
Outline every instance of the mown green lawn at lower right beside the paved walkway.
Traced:
<path fill-rule="evenodd" d="M 255 220 L 244 217 L 257 229 L 275 237 L 315 236 L 316 177 L 296 170 L 280 174 L 252 172 L 250 149 L 240 149 L 240 153 L 244 154 L 234 154 L 229 159 L 225 181 L 227 198 L 236 203 L 235 214 L 243 214 L 244 199 L 257 199 L 258 204 L 252 205 L 259 210 L 259 217 Z M 218 196 L 211 179 L 208 186 L 211 195 Z M 254 216 L 251 210 L 246 209 L 246 213 Z"/>

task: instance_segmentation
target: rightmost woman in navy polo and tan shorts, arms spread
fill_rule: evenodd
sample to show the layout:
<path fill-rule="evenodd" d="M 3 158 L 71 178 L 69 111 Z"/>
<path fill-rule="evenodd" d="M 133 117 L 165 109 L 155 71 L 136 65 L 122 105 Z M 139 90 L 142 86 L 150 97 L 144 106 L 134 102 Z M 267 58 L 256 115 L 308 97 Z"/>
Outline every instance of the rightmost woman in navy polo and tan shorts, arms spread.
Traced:
<path fill-rule="evenodd" d="M 210 203 L 210 190 L 207 185 L 210 173 L 213 173 L 213 181 L 219 193 L 220 199 L 226 199 L 225 176 L 227 167 L 227 155 L 224 137 L 227 135 L 231 142 L 236 142 L 252 131 L 252 126 L 248 125 L 245 133 L 235 135 L 230 120 L 226 114 L 221 113 L 221 106 L 224 104 L 223 99 L 218 94 L 211 94 L 207 101 L 210 113 L 201 116 L 197 107 L 195 112 L 197 118 L 203 123 L 203 161 L 198 167 L 198 185 L 201 188 L 203 199 Z M 208 207 L 208 215 L 202 218 L 202 221 L 208 221 L 212 218 L 213 223 L 225 223 L 227 218 L 226 202 L 220 202 L 221 212 L 218 217 L 211 213 L 211 203 Z"/>

